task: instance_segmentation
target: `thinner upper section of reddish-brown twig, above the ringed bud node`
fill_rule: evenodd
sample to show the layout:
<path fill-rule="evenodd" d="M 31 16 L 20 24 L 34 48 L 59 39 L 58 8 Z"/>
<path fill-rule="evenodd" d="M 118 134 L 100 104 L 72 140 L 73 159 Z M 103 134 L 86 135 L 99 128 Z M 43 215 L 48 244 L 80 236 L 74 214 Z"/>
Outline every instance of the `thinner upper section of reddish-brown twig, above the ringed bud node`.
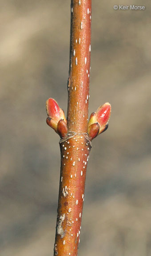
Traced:
<path fill-rule="evenodd" d="M 91 0 L 72 0 L 68 131 L 87 132 L 91 56 Z"/>

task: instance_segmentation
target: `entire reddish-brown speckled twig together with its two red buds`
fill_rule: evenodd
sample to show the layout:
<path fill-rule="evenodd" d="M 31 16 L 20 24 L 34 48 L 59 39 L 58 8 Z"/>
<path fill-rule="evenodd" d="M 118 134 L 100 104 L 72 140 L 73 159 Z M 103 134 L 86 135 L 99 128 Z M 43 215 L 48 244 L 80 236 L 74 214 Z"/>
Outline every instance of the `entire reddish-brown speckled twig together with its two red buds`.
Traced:
<path fill-rule="evenodd" d="M 61 137 L 60 189 L 54 255 L 77 256 L 91 140 L 107 128 L 111 106 L 99 107 L 88 120 L 91 54 L 91 0 L 71 1 L 68 115 L 57 102 L 46 103 L 47 124 Z M 88 126 L 87 126 L 88 124 Z"/>

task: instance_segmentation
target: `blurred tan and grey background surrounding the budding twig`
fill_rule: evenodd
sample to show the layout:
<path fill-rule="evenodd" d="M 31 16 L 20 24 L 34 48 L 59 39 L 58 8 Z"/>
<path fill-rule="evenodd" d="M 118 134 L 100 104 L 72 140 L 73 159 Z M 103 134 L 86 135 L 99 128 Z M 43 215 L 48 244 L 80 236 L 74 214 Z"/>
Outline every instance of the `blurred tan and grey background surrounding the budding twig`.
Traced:
<path fill-rule="evenodd" d="M 89 114 L 112 105 L 93 141 L 79 256 L 151 256 L 151 1 L 92 0 Z M 70 0 L 0 0 L 0 256 L 53 255 L 59 136 L 67 111 Z"/>

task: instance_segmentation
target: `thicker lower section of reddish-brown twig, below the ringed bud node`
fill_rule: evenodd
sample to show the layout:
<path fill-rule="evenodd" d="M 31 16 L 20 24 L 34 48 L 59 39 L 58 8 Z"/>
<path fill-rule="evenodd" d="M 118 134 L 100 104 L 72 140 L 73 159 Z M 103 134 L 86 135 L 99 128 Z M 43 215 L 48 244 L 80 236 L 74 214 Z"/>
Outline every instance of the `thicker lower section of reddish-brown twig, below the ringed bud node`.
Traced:
<path fill-rule="evenodd" d="M 78 252 L 90 149 L 91 142 L 86 133 L 69 132 L 68 137 L 60 141 L 61 172 L 55 255 L 76 256 Z"/>

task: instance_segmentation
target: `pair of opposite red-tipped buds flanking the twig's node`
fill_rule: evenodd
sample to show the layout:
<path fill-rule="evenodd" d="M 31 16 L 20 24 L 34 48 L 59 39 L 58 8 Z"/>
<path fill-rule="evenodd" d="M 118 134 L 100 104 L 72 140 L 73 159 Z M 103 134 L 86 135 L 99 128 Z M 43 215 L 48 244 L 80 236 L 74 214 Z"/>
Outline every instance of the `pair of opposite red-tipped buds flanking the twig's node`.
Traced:
<path fill-rule="evenodd" d="M 64 138 L 68 132 L 67 120 L 64 111 L 61 109 L 56 100 L 50 98 L 46 101 L 46 111 L 48 114 L 47 124 L 57 132 L 61 138 Z M 111 115 L 111 105 L 107 102 L 100 106 L 96 112 L 91 113 L 87 133 L 90 140 L 107 130 L 108 121 Z"/>

